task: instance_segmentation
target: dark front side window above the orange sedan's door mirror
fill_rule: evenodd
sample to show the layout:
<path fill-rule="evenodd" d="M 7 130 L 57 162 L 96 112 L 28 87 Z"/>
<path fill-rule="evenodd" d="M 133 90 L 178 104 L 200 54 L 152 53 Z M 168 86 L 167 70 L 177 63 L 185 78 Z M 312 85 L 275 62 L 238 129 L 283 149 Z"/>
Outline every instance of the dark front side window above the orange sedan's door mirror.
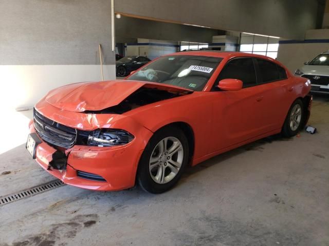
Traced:
<path fill-rule="evenodd" d="M 242 80 L 243 88 L 257 85 L 252 58 L 236 58 L 229 60 L 218 76 L 218 81 L 225 78 Z"/>

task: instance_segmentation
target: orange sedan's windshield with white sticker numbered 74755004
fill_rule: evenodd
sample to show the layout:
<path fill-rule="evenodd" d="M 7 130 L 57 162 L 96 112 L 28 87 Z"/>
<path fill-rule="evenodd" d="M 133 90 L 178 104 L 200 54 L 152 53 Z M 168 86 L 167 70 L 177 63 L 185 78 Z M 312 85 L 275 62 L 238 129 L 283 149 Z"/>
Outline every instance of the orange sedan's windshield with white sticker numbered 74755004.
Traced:
<path fill-rule="evenodd" d="M 202 91 L 222 59 L 198 55 L 162 56 L 131 75 L 129 79 Z"/>

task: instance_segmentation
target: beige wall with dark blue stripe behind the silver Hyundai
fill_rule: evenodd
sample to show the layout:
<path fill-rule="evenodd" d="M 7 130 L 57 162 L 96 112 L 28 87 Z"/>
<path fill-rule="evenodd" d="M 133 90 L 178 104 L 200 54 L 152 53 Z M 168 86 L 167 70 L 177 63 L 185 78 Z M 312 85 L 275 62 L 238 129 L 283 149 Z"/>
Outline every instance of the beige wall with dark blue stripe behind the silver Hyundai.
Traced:
<path fill-rule="evenodd" d="M 305 61 L 329 50 L 329 29 L 308 30 L 305 40 L 280 40 L 278 60 L 294 72 Z"/>

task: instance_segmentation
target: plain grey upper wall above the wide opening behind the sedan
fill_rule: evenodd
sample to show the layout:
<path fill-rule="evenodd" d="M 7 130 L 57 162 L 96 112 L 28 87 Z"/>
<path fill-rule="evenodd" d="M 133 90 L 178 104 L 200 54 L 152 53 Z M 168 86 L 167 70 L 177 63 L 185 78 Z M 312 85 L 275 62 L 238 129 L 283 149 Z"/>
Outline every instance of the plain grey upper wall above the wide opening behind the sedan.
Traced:
<path fill-rule="evenodd" d="M 317 0 L 115 0 L 118 13 L 294 39 L 315 29 L 317 7 Z"/>

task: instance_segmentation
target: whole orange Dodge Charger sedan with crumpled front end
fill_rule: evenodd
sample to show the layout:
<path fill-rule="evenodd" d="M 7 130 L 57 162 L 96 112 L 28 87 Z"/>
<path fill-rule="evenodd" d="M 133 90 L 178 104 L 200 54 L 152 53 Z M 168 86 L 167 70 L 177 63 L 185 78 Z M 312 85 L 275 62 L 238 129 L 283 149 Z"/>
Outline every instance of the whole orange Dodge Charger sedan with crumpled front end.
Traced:
<path fill-rule="evenodd" d="M 34 107 L 26 148 L 64 183 L 116 191 L 171 189 L 188 165 L 309 117 L 310 81 L 266 56 L 190 51 L 161 56 L 124 80 L 50 91 Z"/>

